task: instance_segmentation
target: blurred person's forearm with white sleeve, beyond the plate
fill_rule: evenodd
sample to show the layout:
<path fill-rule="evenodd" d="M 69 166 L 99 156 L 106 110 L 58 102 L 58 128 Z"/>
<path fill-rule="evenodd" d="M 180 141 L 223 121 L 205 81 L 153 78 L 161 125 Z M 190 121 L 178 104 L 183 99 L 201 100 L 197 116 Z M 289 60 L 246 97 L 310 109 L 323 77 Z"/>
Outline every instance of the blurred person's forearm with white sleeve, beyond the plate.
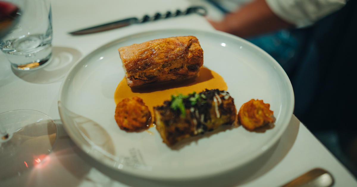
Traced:
<path fill-rule="evenodd" d="M 227 14 L 217 30 L 240 37 L 256 36 L 283 28 L 304 27 L 340 9 L 347 0 L 255 0 Z"/>

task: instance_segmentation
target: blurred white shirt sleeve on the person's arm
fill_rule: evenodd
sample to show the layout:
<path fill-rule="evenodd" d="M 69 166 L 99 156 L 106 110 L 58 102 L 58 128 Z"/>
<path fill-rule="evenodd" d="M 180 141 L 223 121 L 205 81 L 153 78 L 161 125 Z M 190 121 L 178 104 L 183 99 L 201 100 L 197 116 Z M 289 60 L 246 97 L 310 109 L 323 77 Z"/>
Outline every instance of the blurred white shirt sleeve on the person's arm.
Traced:
<path fill-rule="evenodd" d="M 348 0 L 265 0 L 281 19 L 297 27 L 310 26 L 341 9 Z"/>

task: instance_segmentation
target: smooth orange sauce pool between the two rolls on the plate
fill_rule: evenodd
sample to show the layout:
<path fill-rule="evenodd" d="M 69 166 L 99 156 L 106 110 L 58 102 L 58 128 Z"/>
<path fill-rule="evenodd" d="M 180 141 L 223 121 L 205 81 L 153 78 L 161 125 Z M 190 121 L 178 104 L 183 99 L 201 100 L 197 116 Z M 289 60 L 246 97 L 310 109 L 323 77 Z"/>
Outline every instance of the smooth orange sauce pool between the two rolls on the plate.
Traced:
<path fill-rule="evenodd" d="M 195 79 L 162 84 L 148 84 L 140 88 L 130 88 L 126 84 L 126 78 L 124 77 L 115 90 L 114 101 L 115 104 L 118 104 L 125 98 L 131 99 L 134 96 L 140 97 L 144 100 L 145 105 L 149 107 L 152 115 L 154 114 L 153 107 L 164 104 L 165 100 L 171 100 L 171 95 L 180 93 L 187 95 L 192 92 L 199 93 L 205 89 L 227 90 L 227 88 L 226 82 L 218 73 L 201 67 L 200 75 Z"/>

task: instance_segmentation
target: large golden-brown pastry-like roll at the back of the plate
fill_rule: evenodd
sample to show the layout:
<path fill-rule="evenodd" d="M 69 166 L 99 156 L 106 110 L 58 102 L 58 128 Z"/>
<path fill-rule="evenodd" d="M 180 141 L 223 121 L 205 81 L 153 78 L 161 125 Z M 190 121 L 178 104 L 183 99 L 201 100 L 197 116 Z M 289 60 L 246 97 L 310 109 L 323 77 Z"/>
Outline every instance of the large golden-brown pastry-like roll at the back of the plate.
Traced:
<path fill-rule="evenodd" d="M 130 87 L 198 75 L 203 50 L 194 36 L 161 38 L 118 49 Z"/>

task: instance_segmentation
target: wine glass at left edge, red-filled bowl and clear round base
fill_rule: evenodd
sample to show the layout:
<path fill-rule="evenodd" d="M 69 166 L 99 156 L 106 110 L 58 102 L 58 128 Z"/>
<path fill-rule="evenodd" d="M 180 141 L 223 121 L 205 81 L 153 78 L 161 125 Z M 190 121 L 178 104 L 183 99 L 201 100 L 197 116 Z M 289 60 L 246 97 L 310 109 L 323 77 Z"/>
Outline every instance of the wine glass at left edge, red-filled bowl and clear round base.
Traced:
<path fill-rule="evenodd" d="M 16 27 L 24 0 L 0 0 L 0 39 Z M 0 180 L 20 176 L 48 160 L 57 138 L 57 126 L 36 110 L 0 114 Z"/>

